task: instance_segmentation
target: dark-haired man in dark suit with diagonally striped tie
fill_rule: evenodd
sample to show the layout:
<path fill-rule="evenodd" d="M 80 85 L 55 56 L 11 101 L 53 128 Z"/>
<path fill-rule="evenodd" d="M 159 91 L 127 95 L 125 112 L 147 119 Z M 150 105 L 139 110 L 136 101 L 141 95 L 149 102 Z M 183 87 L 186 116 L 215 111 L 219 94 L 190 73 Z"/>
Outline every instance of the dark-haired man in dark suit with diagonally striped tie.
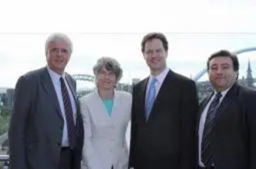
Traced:
<path fill-rule="evenodd" d="M 239 62 L 227 50 L 207 61 L 214 88 L 198 115 L 198 168 L 256 168 L 256 91 L 237 84 Z"/>

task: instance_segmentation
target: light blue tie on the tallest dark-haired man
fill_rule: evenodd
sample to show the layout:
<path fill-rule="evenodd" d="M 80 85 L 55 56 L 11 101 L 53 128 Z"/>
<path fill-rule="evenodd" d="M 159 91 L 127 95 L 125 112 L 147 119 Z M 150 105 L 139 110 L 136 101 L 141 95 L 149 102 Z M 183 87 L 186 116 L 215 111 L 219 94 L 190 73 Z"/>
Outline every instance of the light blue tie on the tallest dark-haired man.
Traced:
<path fill-rule="evenodd" d="M 150 86 L 148 89 L 148 94 L 147 94 L 147 98 L 146 98 L 146 102 L 145 102 L 145 115 L 146 115 L 146 119 L 148 119 L 150 112 L 152 110 L 155 98 L 156 98 L 156 82 L 157 79 L 156 78 L 152 78 L 152 81 L 150 82 Z"/>

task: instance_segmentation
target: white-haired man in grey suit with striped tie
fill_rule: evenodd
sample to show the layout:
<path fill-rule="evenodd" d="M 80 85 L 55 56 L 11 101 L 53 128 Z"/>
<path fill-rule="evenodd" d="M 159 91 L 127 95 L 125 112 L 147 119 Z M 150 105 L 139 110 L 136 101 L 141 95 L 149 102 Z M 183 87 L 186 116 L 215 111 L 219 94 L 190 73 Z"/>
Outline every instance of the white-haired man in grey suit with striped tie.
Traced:
<path fill-rule="evenodd" d="M 65 73 L 72 42 L 52 34 L 45 43 L 47 66 L 22 75 L 10 121 L 10 168 L 79 169 L 83 120 L 76 82 Z"/>

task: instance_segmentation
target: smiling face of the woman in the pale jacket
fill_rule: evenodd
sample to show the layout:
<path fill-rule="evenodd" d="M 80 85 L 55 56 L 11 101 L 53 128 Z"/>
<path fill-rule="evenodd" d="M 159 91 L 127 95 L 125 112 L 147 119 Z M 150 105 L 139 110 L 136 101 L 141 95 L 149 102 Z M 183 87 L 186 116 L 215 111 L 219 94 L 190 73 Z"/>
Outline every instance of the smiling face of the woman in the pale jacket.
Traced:
<path fill-rule="evenodd" d="M 115 73 L 103 67 L 96 75 L 96 85 L 100 90 L 114 90 L 116 85 Z"/>

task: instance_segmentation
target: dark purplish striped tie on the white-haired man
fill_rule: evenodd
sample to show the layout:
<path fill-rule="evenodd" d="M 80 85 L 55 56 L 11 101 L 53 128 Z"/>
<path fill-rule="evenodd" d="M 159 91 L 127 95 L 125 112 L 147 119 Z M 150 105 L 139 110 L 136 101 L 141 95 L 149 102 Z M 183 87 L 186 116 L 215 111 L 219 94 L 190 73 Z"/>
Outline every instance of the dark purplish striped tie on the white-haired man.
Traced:
<path fill-rule="evenodd" d="M 60 78 L 60 83 L 61 83 L 61 94 L 62 94 L 63 104 L 65 108 L 65 116 L 67 121 L 68 143 L 69 143 L 70 149 L 74 149 L 76 132 L 75 132 L 73 110 L 72 110 L 67 86 L 65 85 L 63 77 Z"/>

